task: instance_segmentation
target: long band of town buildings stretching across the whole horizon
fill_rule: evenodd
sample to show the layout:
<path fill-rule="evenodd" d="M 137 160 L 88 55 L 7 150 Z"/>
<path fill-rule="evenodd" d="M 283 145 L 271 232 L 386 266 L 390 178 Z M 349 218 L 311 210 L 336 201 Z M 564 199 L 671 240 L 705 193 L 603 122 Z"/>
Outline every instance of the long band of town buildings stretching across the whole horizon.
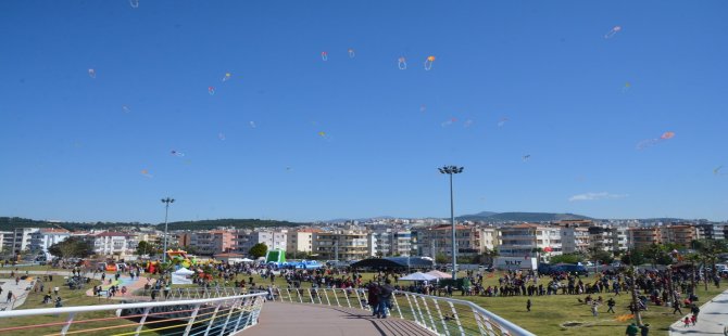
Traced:
<path fill-rule="evenodd" d="M 698 240 L 728 238 L 728 223 L 699 221 L 647 222 L 640 220 L 560 220 L 550 222 L 459 221 L 457 258 L 481 261 L 482 255 L 509 258 L 550 258 L 574 253 L 606 251 L 620 255 L 652 245 L 690 248 Z M 81 237 L 97 256 L 115 259 L 151 255 L 143 246 L 161 248 L 164 232 L 154 227 L 68 231 L 61 228 L 17 228 L 0 231 L 0 253 L 51 260 L 49 247 L 68 237 Z M 285 250 L 289 258 L 353 261 L 372 257 L 421 256 L 449 260 L 452 225 L 440 219 L 371 219 L 316 223 L 296 228 L 236 230 L 170 229 L 171 248 L 187 249 L 200 257 L 231 259 L 250 257 L 250 249 L 264 244 L 268 250 Z M 146 248 L 146 247 L 145 247 Z M 492 259 L 491 259 L 492 261 Z"/>

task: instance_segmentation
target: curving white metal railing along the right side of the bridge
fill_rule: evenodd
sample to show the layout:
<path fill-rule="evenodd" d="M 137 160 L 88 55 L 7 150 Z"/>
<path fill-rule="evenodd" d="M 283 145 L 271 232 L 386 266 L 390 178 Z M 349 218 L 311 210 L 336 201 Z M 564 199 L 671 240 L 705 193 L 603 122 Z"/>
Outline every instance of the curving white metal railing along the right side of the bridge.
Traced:
<path fill-rule="evenodd" d="M 437 335 L 535 336 L 514 323 L 467 301 L 448 297 L 394 292 L 387 315 L 412 321 Z M 281 302 L 364 309 L 372 312 L 363 288 L 277 288 Z"/>

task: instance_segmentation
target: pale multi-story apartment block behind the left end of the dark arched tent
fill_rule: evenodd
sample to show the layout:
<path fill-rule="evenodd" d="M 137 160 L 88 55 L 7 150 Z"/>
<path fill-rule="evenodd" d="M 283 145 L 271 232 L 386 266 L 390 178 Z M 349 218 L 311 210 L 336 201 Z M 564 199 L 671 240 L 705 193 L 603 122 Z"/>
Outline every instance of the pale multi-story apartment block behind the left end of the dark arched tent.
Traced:
<path fill-rule="evenodd" d="M 313 251 L 322 259 L 360 260 L 372 256 L 369 240 L 364 231 L 315 232 Z"/>

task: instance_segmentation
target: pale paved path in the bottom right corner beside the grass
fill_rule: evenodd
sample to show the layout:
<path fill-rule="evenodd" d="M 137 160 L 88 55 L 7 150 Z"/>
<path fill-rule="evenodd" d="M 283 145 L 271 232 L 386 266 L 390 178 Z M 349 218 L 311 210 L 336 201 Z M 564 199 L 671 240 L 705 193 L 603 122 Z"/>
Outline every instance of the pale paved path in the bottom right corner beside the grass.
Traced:
<path fill-rule="evenodd" d="M 685 316 L 682 319 L 685 320 Z M 726 333 L 726 327 L 728 327 L 728 290 L 718 294 L 700 307 L 698 323 L 694 326 L 685 327 L 683 325 L 681 321 L 673 323 L 669 335 L 728 335 Z"/>

